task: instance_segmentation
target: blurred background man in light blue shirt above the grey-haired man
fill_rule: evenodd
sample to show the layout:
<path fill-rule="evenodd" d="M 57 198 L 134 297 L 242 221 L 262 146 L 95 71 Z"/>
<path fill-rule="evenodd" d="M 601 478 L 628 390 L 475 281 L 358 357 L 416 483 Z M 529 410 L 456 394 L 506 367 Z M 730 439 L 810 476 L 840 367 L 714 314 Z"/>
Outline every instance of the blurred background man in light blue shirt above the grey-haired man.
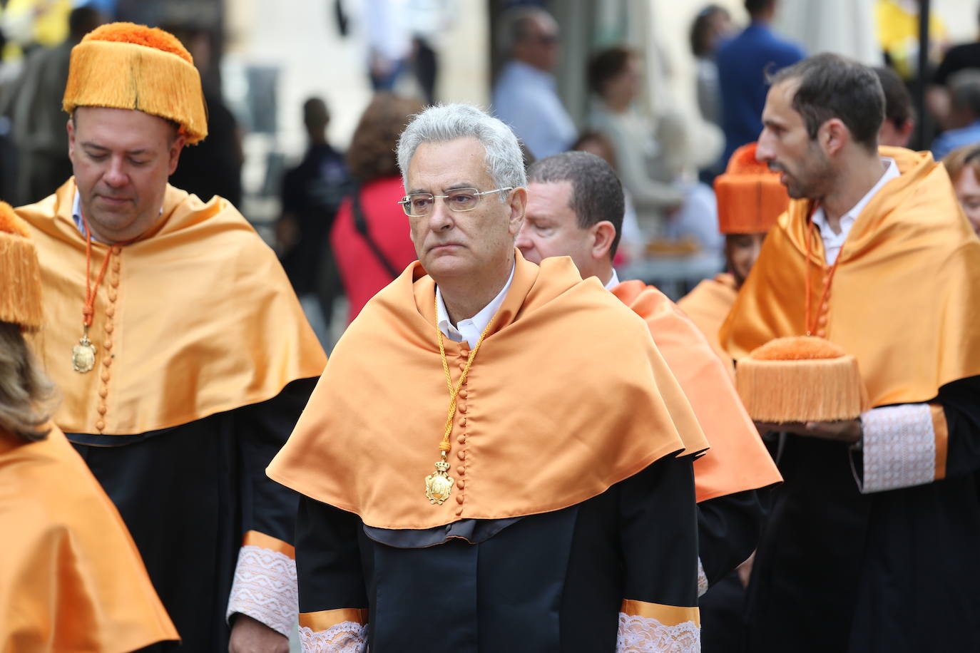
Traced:
<path fill-rule="evenodd" d="M 498 33 L 500 50 L 509 61 L 494 86 L 494 114 L 535 158 L 564 152 L 575 140 L 575 124 L 553 75 L 559 58 L 558 23 L 539 7 L 517 7 L 503 15 Z"/>

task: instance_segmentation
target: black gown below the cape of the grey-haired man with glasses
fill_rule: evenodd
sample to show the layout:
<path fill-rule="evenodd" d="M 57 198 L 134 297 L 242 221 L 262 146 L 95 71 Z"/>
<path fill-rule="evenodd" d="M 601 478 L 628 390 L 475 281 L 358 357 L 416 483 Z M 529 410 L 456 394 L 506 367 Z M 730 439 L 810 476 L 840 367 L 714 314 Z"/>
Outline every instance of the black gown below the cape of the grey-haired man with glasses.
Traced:
<path fill-rule="evenodd" d="M 371 653 L 613 653 L 623 599 L 696 604 L 694 505 L 690 457 L 563 510 L 423 531 L 301 497 L 300 612 L 367 608 Z"/>

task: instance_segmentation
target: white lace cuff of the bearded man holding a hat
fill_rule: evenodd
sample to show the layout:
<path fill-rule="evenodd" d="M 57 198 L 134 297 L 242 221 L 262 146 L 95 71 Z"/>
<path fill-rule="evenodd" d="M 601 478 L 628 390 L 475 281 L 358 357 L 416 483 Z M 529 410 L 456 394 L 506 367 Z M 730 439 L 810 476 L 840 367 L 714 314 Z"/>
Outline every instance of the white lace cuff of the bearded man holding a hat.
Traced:
<path fill-rule="evenodd" d="M 861 415 L 864 483 L 861 492 L 932 483 L 936 433 L 928 403 L 873 408 Z"/>

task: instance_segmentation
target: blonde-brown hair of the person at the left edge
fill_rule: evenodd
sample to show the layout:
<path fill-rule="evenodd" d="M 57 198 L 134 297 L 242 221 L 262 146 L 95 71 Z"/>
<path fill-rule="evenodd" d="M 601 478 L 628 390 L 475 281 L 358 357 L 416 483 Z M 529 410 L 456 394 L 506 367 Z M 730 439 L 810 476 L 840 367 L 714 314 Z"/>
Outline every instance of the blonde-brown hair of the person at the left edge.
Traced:
<path fill-rule="evenodd" d="M 43 440 L 54 387 L 38 367 L 19 324 L 0 321 L 0 429 L 27 442 Z"/>

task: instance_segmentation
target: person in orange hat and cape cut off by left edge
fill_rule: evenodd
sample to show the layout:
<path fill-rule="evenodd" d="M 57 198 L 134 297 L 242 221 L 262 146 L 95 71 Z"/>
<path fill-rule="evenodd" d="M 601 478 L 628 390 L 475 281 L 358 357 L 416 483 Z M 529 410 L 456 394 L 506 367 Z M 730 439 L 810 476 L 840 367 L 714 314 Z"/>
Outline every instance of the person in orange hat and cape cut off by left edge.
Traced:
<path fill-rule="evenodd" d="M 37 253 L 0 202 L 0 650 L 113 653 L 176 639 L 119 512 L 49 421 L 25 333 L 42 324 Z"/>

